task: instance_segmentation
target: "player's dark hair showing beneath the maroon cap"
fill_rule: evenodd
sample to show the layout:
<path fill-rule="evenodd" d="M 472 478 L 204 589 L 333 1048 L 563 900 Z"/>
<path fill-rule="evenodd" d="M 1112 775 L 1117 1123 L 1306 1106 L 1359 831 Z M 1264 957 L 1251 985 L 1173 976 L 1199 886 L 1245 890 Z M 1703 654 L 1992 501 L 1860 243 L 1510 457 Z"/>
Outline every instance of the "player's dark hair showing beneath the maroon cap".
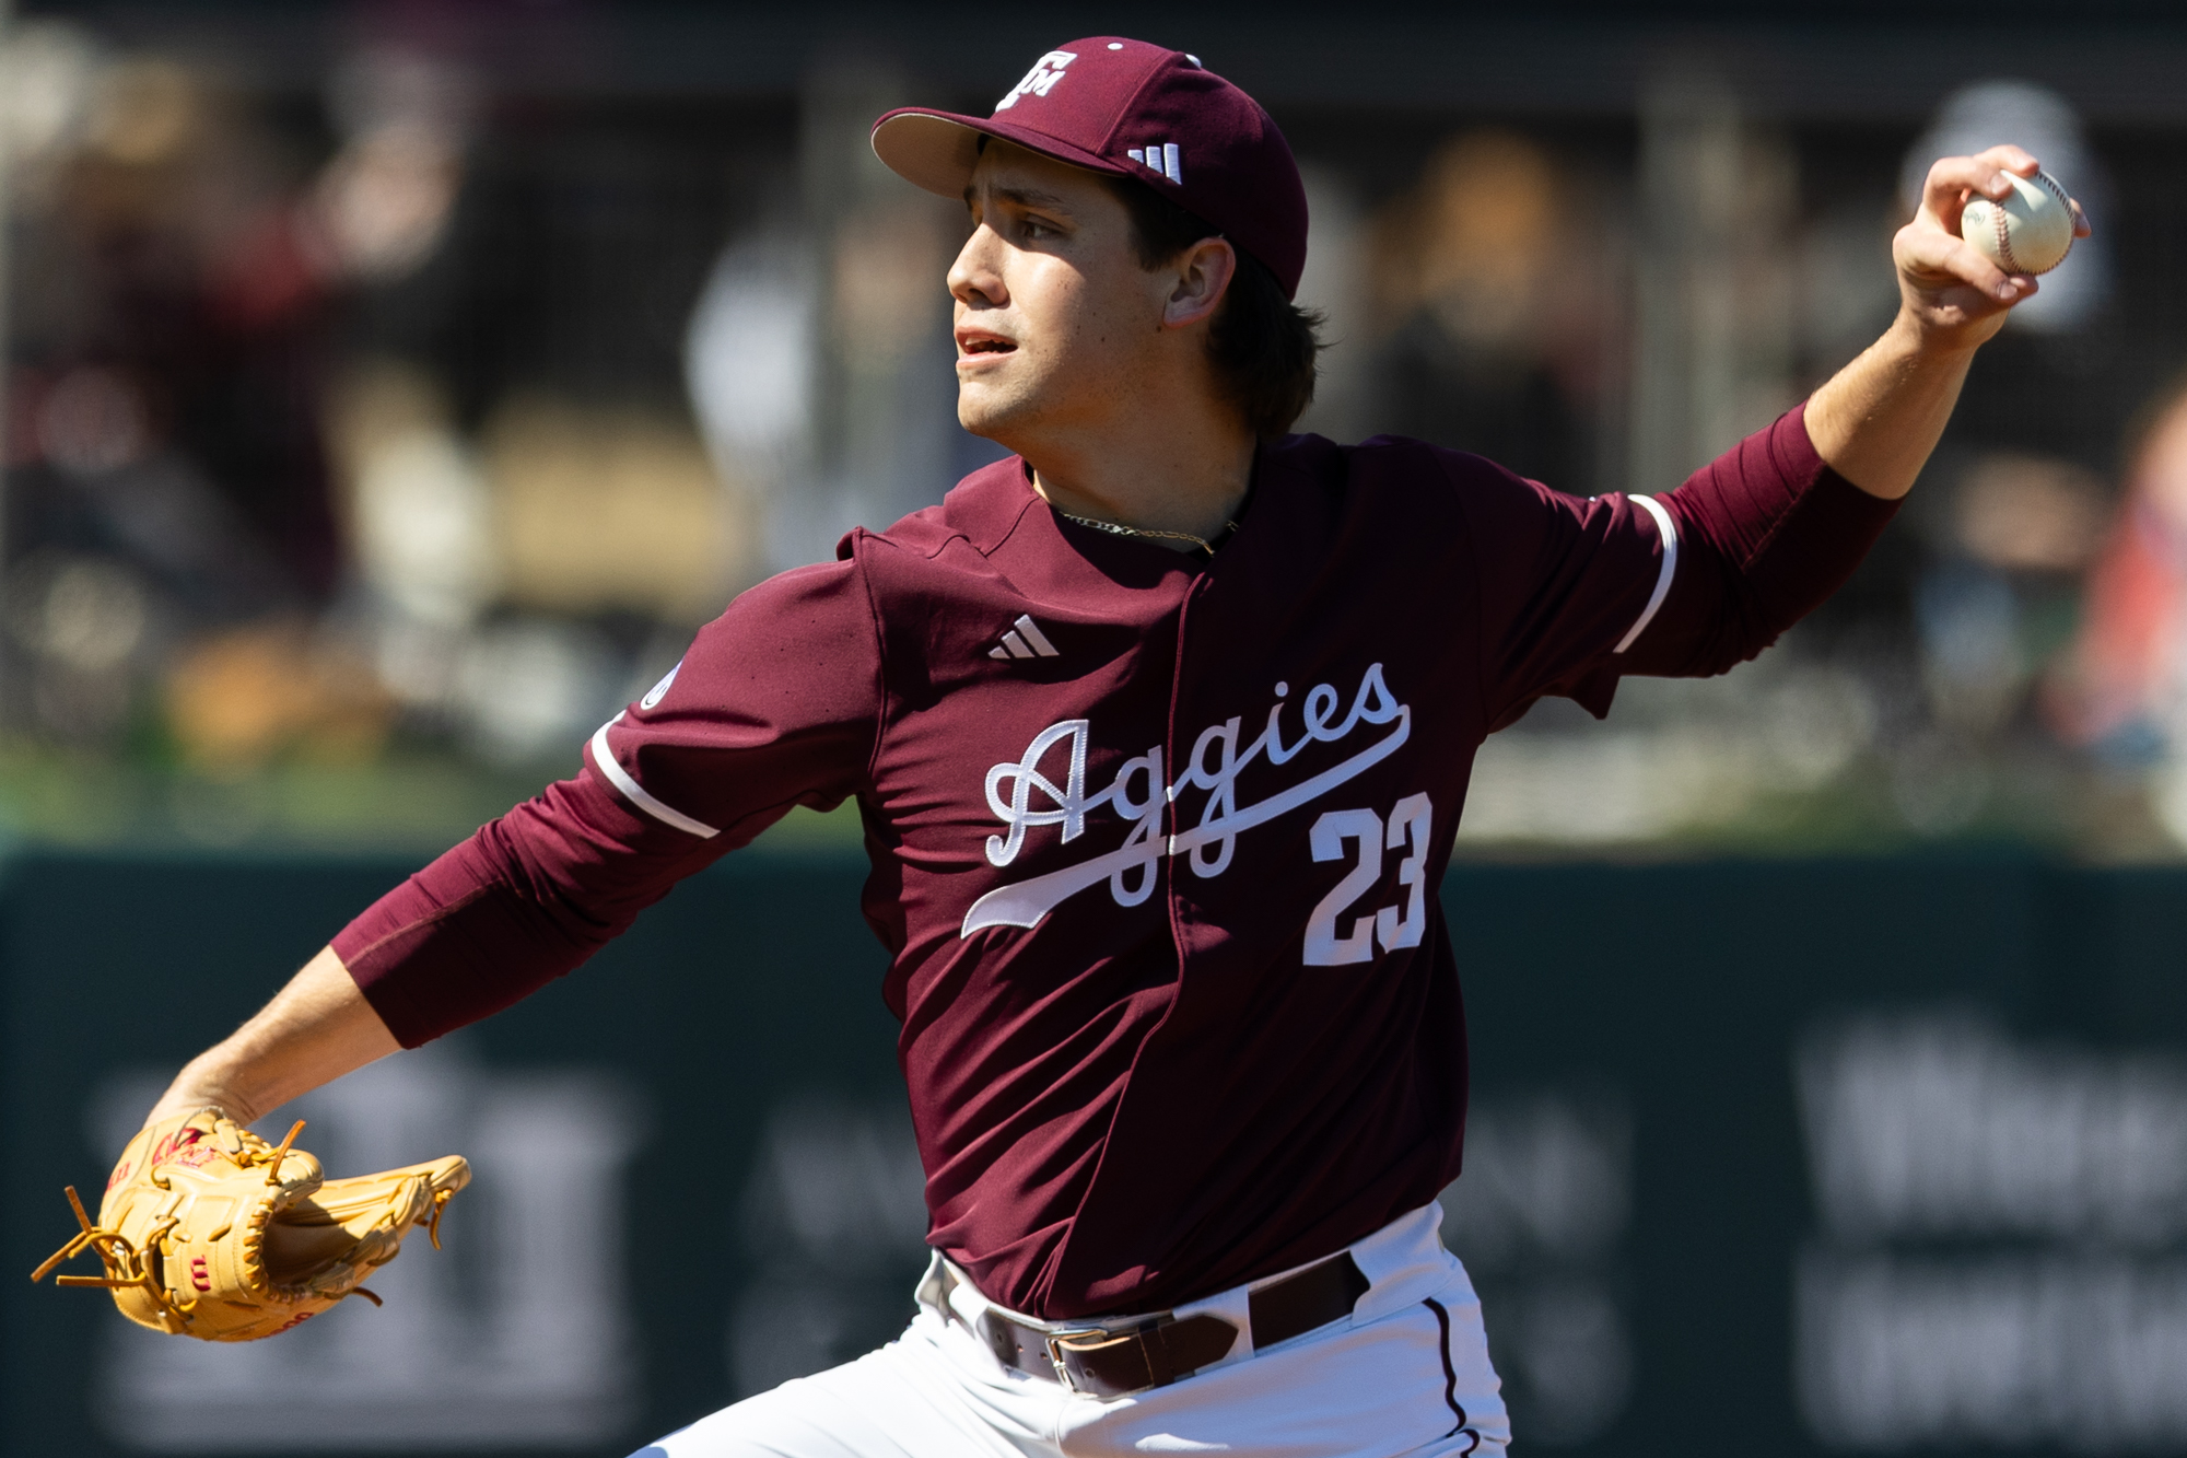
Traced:
<path fill-rule="evenodd" d="M 1131 177 L 1104 177 L 1109 190 L 1131 212 L 1133 252 L 1139 267 L 1157 269 L 1218 230 L 1196 212 Z M 1284 285 L 1268 265 L 1238 250 L 1223 304 L 1207 328 L 1207 355 L 1216 374 L 1262 440 L 1286 433 L 1314 403 L 1314 355 L 1321 352 L 1321 313 L 1284 298 Z"/>

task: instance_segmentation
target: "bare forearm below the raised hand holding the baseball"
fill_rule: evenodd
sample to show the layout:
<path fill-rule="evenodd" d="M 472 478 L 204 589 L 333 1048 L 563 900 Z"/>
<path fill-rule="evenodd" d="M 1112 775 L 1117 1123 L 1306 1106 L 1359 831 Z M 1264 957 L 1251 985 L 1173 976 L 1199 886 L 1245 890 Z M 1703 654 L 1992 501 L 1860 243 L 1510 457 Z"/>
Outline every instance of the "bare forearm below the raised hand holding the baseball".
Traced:
<path fill-rule="evenodd" d="M 1901 315 L 1806 403 L 1815 453 L 1868 495 L 1896 501 L 1944 436 L 1975 348 L 1933 342 Z"/>

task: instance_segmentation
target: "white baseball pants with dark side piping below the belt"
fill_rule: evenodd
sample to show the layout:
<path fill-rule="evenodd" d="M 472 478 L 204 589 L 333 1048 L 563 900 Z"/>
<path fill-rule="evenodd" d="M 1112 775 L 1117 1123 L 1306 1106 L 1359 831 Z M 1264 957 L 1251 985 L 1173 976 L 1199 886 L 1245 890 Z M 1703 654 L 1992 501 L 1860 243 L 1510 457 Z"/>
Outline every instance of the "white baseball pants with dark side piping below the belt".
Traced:
<path fill-rule="evenodd" d="M 1511 1425 L 1481 1300 L 1443 1250 L 1441 1222 L 1430 1204 L 1352 1246 L 1369 1281 L 1352 1316 L 1266 1351 L 1253 1351 L 1251 1287 L 1179 1307 L 1179 1318 L 1227 1318 L 1238 1346 L 1183 1381 L 1115 1399 L 1002 1366 L 967 1329 L 980 1294 L 958 1285 L 951 1318 L 929 1272 L 910 1329 L 881 1351 L 724 1408 L 632 1458 L 1502 1458 Z"/>

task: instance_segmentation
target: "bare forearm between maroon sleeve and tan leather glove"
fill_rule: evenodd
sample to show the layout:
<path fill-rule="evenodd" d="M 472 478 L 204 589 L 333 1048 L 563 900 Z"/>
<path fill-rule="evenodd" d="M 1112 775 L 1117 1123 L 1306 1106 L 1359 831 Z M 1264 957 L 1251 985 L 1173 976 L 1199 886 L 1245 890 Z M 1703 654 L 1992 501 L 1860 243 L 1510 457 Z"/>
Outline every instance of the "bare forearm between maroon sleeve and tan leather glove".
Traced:
<path fill-rule="evenodd" d="M 396 1049 L 335 948 L 326 948 L 249 1022 L 192 1057 L 147 1121 L 210 1103 L 236 1123 L 252 1123 Z"/>

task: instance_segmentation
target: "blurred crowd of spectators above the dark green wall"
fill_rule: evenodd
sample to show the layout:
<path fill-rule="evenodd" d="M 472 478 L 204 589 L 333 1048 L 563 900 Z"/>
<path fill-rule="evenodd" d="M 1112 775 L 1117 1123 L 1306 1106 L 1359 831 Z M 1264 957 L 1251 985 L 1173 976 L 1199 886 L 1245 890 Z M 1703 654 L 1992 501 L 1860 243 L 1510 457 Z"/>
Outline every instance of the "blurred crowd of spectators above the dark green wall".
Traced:
<path fill-rule="evenodd" d="M 0 821 L 431 847 L 569 773 L 735 591 L 993 458 L 951 412 L 962 217 L 866 129 L 986 112 L 1080 24 L 1190 46 L 1290 136 L 1334 342 L 1303 429 L 1577 495 L 1675 486 L 1796 403 L 1890 322 L 1927 162 L 2030 147 L 2097 234 L 1861 576 L 1723 679 L 1537 707 L 1461 849 L 2187 847 L 2176 39 L 1059 24 L 20 7 Z"/>

